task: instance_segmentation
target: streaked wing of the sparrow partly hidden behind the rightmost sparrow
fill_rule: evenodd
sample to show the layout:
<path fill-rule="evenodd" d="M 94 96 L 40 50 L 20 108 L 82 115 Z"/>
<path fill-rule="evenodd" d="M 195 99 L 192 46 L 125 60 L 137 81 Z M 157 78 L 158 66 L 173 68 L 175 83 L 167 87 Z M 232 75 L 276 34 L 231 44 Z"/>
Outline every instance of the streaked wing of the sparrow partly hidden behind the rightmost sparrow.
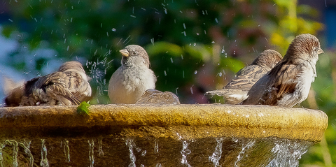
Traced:
<path fill-rule="evenodd" d="M 224 89 L 241 89 L 242 91 L 248 91 L 263 75 L 267 73 L 267 69 L 258 65 L 249 65 L 242 68 L 236 74 L 236 77 L 232 79 L 223 87 Z"/>

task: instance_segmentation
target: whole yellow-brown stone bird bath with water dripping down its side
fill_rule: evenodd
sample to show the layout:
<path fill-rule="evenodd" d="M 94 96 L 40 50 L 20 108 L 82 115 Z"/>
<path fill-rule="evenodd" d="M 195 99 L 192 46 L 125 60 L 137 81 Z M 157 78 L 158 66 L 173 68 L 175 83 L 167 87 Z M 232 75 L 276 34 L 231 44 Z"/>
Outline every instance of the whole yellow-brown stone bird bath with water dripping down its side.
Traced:
<path fill-rule="evenodd" d="M 320 110 L 270 106 L 0 108 L 3 166 L 297 166 L 328 126 Z M 0 164 L 0 165 L 1 165 Z"/>

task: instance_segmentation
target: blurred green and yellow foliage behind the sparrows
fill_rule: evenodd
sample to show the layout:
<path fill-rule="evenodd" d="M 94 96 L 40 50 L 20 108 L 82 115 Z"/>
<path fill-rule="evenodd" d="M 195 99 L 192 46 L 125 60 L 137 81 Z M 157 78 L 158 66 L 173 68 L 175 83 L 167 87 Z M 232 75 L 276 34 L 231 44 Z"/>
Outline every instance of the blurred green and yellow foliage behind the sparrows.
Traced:
<path fill-rule="evenodd" d="M 109 103 L 106 83 L 120 66 L 118 50 L 129 44 L 148 51 L 151 68 L 158 76 L 156 89 L 176 93 L 181 103 L 208 103 L 204 92 L 226 85 L 263 50 L 275 49 L 284 55 L 296 35 L 318 36 L 323 29 L 323 24 L 300 16 L 316 17 L 318 11 L 286 0 L 25 0 L 2 5 L 10 18 L 3 22 L 2 34 L 20 43 L 8 56 L 10 65 L 27 71 L 29 62 L 17 61 L 18 55 L 25 52 L 34 57 L 37 48 L 57 53 L 34 60 L 31 73 L 36 75 L 45 75 L 41 68 L 52 59 L 78 59 L 92 77 L 96 96 L 91 103 Z M 318 38 L 323 48 L 323 36 Z M 300 107 L 323 110 L 330 126 L 326 142 L 311 147 L 300 166 L 336 164 L 336 60 L 323 50 L 318 77 L 309 99 Z"/>

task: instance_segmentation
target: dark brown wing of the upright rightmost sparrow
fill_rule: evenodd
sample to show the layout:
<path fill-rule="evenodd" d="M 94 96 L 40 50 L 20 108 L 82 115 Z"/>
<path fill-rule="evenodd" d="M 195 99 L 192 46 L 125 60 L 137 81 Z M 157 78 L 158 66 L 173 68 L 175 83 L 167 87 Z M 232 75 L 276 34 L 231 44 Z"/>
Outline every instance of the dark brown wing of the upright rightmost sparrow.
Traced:
<path fill-rule="evenodd" d="M 279 104 L 279 101 L 283 100 L 284 96 L 293 94 L 295 91 L 295 87 L 297 85 L 295 80 L 297 80 L 297 76 L 302 73 L 302 69 L 293 64 L 283 64 L 283 66 L 279 67 L 279 72 L 269 73 L 271 78 L 274 78 L 274 81 L 265 90 L 262 98 L 259 101 L 261 104 L 270 106 L 283 106 L 283 104 Z M 295 101 L 297 100 L 289 98 L 281 103 L 286 103 L 284 106 L 294 106 Z M 292 105 L 292 103 L 294 104 Z"/>

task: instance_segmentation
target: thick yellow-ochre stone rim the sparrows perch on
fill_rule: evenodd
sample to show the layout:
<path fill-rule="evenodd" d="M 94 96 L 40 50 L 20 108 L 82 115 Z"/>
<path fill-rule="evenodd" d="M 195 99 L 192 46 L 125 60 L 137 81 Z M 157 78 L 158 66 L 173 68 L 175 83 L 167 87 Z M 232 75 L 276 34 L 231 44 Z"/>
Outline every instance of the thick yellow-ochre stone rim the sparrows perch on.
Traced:
<path fill-rule="evenodd" d="M 288 138 L 319 142 L 328 127 L 321 110 L 224 104 L 92 105 L 0 108 L 1 138 L 120 136 L 190 140 L 207 137 Z"/>

